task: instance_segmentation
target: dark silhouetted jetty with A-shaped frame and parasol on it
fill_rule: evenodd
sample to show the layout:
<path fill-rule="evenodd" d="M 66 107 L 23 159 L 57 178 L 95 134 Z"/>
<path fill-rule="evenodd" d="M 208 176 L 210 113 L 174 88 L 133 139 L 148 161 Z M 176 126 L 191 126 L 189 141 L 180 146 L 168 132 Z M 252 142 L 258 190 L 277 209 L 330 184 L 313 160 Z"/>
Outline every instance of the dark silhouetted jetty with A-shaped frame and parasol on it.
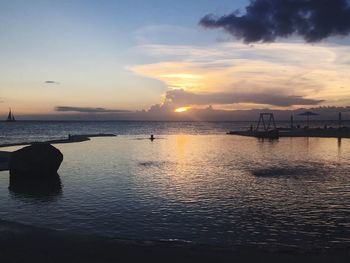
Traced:
<path fill-rule="evenodd" d="M 229 131 L 227 134 L 268 139 L 278 139 L 280 137 L 350 138 L 350 128 L 342 126 L 341 113 L 339 113 L 339 125 L 337 128 L 328 127 L 327 125 L 323 128 L 310 128 L 309 117 L 318 114 L 305 112 L 299 115 L 307 117 L 307 125 L 305 127 L 294 126 L 293 116 L 291 116 L 289 128 L 277 127 L 272 113 L 260 113 L 258 125 L 255 129 L 251 125 L 248 130 Z"/>

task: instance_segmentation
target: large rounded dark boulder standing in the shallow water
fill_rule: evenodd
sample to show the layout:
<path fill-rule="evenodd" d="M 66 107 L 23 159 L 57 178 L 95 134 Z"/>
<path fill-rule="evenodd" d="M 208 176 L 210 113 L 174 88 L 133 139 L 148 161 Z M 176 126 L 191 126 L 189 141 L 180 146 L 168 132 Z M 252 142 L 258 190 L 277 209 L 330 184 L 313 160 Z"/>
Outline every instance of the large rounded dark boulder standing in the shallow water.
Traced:
<path fill-rule="evenodd" d="M 40 178 L 57 175 L 63 154 L 49 143 L 35 143 L 12 153 L 10 176 Z"/>

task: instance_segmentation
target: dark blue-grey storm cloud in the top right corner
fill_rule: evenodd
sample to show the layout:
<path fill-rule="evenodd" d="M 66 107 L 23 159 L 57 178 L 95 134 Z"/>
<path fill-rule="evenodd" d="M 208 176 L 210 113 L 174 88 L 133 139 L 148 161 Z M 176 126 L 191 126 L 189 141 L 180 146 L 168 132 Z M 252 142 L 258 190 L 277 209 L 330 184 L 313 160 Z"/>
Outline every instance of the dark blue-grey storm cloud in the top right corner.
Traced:
<path fill-rule="evenodd" d="M 246 12 L 204 16 L 206 28 L 223 28 L 246 43 L 299 35 L 307 42 L 350 33 L 350 0 L 252 0 Z"/>

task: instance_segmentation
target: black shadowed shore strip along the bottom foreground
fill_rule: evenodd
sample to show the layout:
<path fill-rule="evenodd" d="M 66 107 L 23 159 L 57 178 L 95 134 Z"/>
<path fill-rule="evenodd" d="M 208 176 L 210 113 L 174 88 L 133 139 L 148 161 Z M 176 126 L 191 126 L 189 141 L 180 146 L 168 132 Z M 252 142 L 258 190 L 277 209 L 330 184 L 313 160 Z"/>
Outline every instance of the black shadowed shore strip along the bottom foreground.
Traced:
<path fill-rule="evenodd" d="M 0 219 L 5 262 L 347 262 L 349 248 L 263 250 L 74 234 Z"/>

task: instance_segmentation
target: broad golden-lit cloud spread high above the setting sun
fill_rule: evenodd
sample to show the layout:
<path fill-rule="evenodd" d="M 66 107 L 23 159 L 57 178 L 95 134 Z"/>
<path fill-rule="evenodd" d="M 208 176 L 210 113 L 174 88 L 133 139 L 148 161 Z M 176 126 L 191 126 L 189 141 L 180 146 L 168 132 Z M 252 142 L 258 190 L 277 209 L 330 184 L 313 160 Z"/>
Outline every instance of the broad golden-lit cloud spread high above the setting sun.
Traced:
<path fill-rule="evenodd" d="M 211 48 L 146 45 L 142 49 L 143 52 L 149 49 L 150 54 L 162 62 L 129 69 L 160 80 L 170 89 L 195 93 L 278 92 L 285 96 L 324 100 L 320 105 L 337 105 L 339 100 L 342 104 L 344 100 L 350 103 L 350 47 L 347 46 L 219 43 Z M 161 50 L 158 55 L 157 49 Z M 249 105 L 240 106 L 247 108 L 245 106 Z M 228 105 L 225 107 L 227 109 Z M 232 104 L 234 108 L 237 105 Z"/>

